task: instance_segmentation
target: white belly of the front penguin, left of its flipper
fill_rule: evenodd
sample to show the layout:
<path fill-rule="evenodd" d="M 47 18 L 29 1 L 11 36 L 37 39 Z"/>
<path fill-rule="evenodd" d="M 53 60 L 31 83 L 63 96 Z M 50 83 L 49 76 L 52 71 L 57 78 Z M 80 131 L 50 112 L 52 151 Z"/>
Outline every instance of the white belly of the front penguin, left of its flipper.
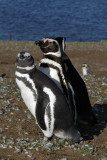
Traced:
<path fill-rule="evenodd" d="M 28 107 L 28 109 L 30 110 L 30 112 L 33 114 L 33 116 L 35 117 L 35 109 L 36 109 L 36 100 L 33 94 L 33 91 L 31 89 L 29 89 L 23 81 L 20 81 L 16 78 L 16 83 L 20 88 L 21 91 L 21 96 L 26 104 L 26 106 Z"/>

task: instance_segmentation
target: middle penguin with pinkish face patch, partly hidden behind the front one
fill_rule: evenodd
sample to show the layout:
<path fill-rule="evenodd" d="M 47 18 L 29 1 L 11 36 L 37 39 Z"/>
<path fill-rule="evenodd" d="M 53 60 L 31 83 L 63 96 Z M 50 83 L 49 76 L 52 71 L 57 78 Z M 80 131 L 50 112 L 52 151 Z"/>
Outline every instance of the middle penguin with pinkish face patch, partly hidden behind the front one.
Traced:
<path fill-rule="evenodd" d="M 74 92 L 72 87 L 69 87 L 69 83 L 65 76 L 65 68 L 61 58 L 60 43 L 53 38 L 43 38 L 41 41 L 36 41 L 35 43 L 40 46 L 44 54 L 39 63 L 39 70 L 51 78 L 60 88 L 69 103 L 73 119 L 76 124 L 77 113 Z"/>

